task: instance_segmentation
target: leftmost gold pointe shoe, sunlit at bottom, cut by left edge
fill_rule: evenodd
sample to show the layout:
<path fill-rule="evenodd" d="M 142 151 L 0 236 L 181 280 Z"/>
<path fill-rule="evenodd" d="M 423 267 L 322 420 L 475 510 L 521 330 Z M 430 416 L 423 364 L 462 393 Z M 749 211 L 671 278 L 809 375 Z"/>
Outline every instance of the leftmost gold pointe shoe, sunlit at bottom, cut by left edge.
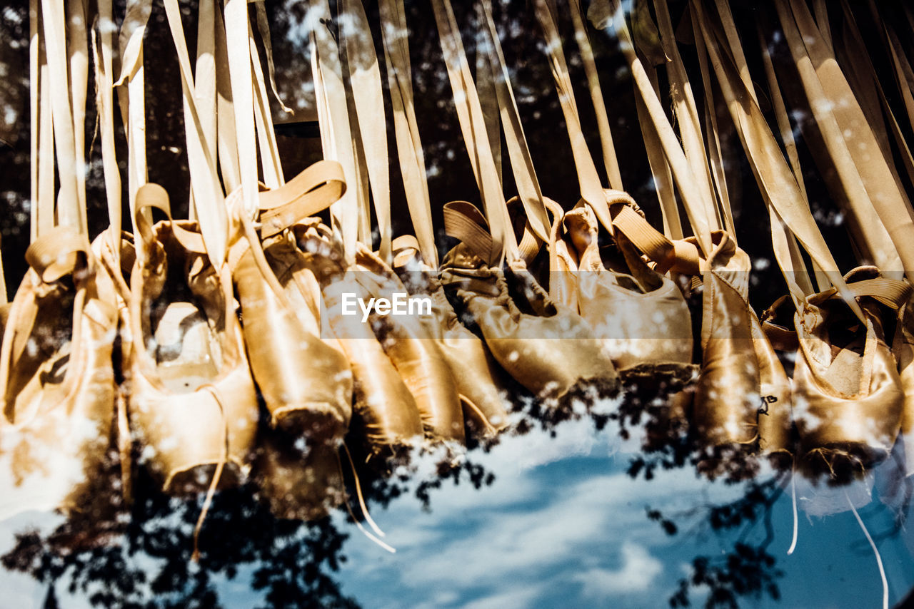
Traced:
<path fill-rule="evenodd" d="M 26 258 L 0 357 L 0 519 L 26 509 L 101 518 L 112 500 L 97 487 L 112 446 L 114 294 L 69 229 L 48 231 Z"/>

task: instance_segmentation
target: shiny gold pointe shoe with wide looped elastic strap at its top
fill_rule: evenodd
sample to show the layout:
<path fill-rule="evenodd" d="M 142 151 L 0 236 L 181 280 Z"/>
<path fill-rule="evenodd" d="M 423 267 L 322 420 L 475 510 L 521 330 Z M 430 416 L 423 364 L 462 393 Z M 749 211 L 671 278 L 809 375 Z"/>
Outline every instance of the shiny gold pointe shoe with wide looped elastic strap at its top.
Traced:
<path fill-rule="evenodd" d="M 244 226 L 229 255 L 251 371 L 271 425 L 322 442 L 341 440 L 349 427 L 352 371 L 335 337 L 321 332 L 320 286 L 286 229 L 344 192 L 342 168 L 324 161 L 262 191 L 260 235 Z M 227 205 L 245 225 L 240 189 Z"/>

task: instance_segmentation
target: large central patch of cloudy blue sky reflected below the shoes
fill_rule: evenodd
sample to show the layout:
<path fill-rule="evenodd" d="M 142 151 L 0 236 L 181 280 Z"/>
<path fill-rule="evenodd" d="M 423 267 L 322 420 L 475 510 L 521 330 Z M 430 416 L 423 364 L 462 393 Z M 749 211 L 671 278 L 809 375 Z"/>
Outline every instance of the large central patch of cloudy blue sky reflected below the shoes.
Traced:
<path fill-rule="evenodd" d="M 374 513 L 398 552 L 386 554 L 354 531 L 344 592 L 379 607 L 410 606 L 441 591 L 452 594 L 437 599 L 438 607 L 539 607 L 561 598 L 577 606 L 571 599 L 586 604 L 619 594 L 631 606 L 665 604 L 680 574 L 655 558 L 671 541 L 644 508 L 687 509 L 733 499 L 739 489 L 682 470 L 632 480 L 623 472 L 626 446 L 610 437 L 618 435 L 571 423 L 554 438 L 508 437 L 473 455 L 495 472 L 493 486 L 445 483 L 433 491 L 430 513 L 413 499 Z"/>

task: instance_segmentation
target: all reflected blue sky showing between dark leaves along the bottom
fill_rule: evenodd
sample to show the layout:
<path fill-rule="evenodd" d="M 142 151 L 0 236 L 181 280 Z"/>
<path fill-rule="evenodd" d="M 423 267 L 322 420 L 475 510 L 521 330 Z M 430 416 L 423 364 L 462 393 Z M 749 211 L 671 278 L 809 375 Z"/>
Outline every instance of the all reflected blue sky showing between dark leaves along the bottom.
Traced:
<path fill-rule="evenodd" d="M 692 573 L 693 561 L 711 561 L 732 552 L 734 543 L 760 543 L 763 523 L 726 533 L 711 530 L 708 509 L 743 496 L 743 485 L 711 483 L 691 468 L 660 470 L 651 481 L 626 474 L 638 440 L 619 440 L 609 425 L 595 432 L 590 421 L 559 425 L 556 436 L 534 430 L 506 437 L 470 457 L 495 475 L 491 486 L 474 489 L 466 480 L 445 481 L 430 495 L 430 508 L 412 494 L 394 499 L 372 515 L 397 549 L 390 554 L 362 535 L 337 510 L 335 525 L 349 534 L 346 561 L 333 577 L 341 592 L 366 608 L 382 607 L 584 607 L 668 606 L 679 582 Z M 415 479 L 432 478 L 434 459 L 418 464 Z M 890 602 L 897 603 L 914 583 L 914 533 L 893 530 L 892 499 L 875 499 L 860 509 L 877 539 L 885 563 Z M 766 479 L 763 473 L 759 480 Z M 815 498 L 815 488 L 798 487 L 798 501 Z M 845 489 L 840 489 L 844 493 Z M 866 492 L 858 483 L 849 492 Z M 884 503 L 886 501 L 887 503 Z M 647 510 L 675 522 L 668 535 Z M 908 515 L 911 510 L 908 509 Z M 59 517 L 35 513 L 0 523 L 0 551 L 28 523 L 44 530 Z M 175 522 L 175 526 L 182 526 Z M 768 547 L 782 572 L 774 582 L 781 595 L 739 600 L 739 606 L 877 606 L 882 587 L 875 557 L 850 511 L 828 517 L 800 512 L 799 542 L 787 555 L 792 533 L 789 487 L 771 509 L 773 541 Z M 239 539 L 245 534 L 237 530 Z M 142 552 L 130 559 L 154 574 L 162 564 Z M 250 586 L 256 568 L 240 565 L 237 577 L 214 578 L 222 606 L 252 607 L 264 598 Z M 47 588 L 25 575 L 0 572 L 5 606 L 40 606 Z M 62 607 L 91 606 L 69 596 L 58 582 Z M 689 591 L 693 606 L 703 606 L 707 588 Z M 147 598 L 152 598 L 149 596 Z"/>

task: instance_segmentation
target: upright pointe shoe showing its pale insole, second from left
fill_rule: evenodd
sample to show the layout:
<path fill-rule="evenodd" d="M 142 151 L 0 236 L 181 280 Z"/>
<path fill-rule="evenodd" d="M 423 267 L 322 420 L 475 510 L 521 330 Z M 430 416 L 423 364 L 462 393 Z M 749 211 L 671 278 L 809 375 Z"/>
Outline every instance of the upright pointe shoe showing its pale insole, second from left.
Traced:
<path fill-rule="evenodd" d="M 209 264 L 195 222 L 159 222 L 152 236 L 138 244 L 144 255 L 131 275 L 131 425 L 166 492 L 207 488 L 220 463 L 220 485 L 228 486 L 247 476 L 259 416 L 228 267 Z M 157 351 L 163 329 L 154 315 L 163 310 L 161 320 L 183 317 L 191 326 L 168 329 L 181 352 L 206 357 L 175 362 Z"/>

